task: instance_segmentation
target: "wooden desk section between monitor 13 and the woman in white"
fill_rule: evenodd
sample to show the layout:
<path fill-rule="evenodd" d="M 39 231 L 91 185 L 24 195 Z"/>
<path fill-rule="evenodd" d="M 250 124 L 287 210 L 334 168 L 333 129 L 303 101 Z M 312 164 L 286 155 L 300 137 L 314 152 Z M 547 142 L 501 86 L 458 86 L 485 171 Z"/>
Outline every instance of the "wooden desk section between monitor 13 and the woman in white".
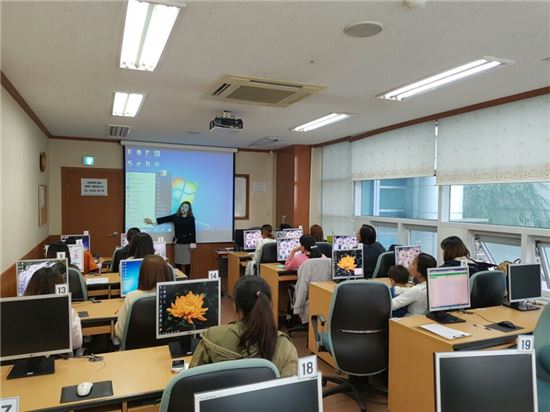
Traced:
<path fill-rule="evenodd" d="M 124 298 L 103 299 L 96 303 L 92 301 L 73 302 L 72 308 L 80 316 L 82 334 L 85 336 L 113 334 L 118 312 L 124 303 Z M 88 316 L 81 316 L 88 312 Z"/>

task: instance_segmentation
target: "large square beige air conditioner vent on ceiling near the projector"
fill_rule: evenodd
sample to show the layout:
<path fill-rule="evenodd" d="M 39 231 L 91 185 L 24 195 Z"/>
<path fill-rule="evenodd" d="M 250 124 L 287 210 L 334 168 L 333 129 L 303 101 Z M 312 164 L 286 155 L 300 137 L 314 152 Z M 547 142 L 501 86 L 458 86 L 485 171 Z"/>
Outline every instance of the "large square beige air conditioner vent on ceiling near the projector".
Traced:
<path fill-rule="evenodd" d="M 226 102 L 286 107 L 321 89 L 323 87 L 310 84 L 228 74 L 207 96 Z"/>

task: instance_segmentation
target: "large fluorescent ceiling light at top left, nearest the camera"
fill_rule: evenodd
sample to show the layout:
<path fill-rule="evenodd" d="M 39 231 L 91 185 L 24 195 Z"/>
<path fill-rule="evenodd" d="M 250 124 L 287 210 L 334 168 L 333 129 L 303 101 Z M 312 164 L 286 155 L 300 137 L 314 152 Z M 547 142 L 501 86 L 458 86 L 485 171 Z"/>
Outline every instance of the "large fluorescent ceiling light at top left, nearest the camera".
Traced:
<path fill-rule="evenodd" d="M 155 70 L 178 13 L 176 6 L 128 1 L 120 67 Z"/>

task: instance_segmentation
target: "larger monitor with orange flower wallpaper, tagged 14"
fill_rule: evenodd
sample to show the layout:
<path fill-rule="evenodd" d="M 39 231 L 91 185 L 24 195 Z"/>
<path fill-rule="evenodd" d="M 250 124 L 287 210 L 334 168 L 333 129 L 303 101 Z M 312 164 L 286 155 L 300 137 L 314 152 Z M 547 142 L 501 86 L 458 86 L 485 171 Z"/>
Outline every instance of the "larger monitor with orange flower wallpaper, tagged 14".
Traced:
<path fill-rule="evenodd" d="M 157 283 L 157 339 L 219 325 L 220 296 L 219 278 Z"/>

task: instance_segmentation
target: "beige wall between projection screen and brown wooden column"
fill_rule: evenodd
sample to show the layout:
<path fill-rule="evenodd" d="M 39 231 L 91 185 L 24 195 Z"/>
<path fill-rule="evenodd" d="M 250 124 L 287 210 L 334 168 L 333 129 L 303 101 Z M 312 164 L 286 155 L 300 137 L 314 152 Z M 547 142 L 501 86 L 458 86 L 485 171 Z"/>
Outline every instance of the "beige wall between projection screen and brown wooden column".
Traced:
<path fill-rule="evenodd" d="M 274 224 L 275 154 L 272 152 L 238 152 L 235 156 L 235 173 L 249 175 L 249 219 L 236 220 L 236 229 Z M 265 192 L 255 192 L 254 183 L 265 184 Z"/>

